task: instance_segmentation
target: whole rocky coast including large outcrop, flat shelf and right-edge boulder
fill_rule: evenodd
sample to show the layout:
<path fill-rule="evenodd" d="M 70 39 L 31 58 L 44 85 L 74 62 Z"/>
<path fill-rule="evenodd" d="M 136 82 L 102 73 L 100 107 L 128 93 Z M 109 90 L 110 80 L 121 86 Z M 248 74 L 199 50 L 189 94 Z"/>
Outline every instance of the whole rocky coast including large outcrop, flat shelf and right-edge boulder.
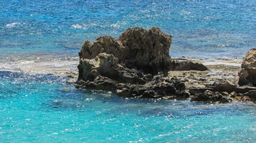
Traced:
<path fill-rule="evenodd" d="M 127 98 L 255 101 L 254 48 L 240 68 L 226 61 L 173 59 L 171 43 L 172 36 L 157 27 L 127 28 L 117 39 L 103 36 L 94 43 L 85 41 L 79 52 L 76 88 Z"/>

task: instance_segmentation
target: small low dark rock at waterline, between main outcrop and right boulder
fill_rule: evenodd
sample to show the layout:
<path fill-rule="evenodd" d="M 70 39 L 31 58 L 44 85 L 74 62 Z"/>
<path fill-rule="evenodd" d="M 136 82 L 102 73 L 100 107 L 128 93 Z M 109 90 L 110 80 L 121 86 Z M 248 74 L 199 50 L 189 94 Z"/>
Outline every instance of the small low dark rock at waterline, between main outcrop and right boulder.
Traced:
<path fill-rule="evenodd" d="M 205 91 L 204 93 L 197 93 L 191 97 L 191 101 L 203 101 L 203 102 L 217 102 L 225 103 L 230 102 L 231 99 L 226 95 L 222 95 L 219 92 Z"/>

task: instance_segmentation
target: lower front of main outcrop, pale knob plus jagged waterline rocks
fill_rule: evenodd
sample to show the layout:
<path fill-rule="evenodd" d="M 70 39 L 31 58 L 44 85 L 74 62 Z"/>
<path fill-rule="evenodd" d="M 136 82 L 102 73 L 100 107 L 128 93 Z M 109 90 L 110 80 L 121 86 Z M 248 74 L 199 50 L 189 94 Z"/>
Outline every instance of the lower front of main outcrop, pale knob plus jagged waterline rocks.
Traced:
<path fill-rule="evenodd" d="M 99 53 L 94 59 L 81 59 L 77 88 L 112 91 L 122 97 L 188 97 L 184 82 L 167 78 L 162 72 L 152 76 L 118 64 L 113 54 Z M 85 80 L 84 80 L 85 79 Z"/>

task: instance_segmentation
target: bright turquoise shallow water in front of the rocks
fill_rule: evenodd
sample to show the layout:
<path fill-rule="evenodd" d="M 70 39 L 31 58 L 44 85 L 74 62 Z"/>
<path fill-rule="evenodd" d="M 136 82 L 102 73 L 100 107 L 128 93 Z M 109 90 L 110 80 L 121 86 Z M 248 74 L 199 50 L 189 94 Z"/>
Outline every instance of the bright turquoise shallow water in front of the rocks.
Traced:
<path fill-rule="evenodd" d="M 254 142 L 253 103 L 120 98 L 0 72 L 0 142 Z"/>

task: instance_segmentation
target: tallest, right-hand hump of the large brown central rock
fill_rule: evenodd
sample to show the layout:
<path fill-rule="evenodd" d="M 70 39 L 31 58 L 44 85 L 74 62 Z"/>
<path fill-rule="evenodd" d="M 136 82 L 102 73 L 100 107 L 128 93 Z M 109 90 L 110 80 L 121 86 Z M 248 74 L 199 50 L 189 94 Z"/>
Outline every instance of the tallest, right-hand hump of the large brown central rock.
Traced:
<path fill-rule="evenodd" d="M 150 30 L 141 27 L 127 28 L 118 41 L 127 48 L 126 56 L 120 59 L 127 66 L 135 66 L 149 73 L 170 69 L 172 59 L 169 55 L 169 47 L 172 36 L 164 34 L 160 28 L 152 27 Z"/>

